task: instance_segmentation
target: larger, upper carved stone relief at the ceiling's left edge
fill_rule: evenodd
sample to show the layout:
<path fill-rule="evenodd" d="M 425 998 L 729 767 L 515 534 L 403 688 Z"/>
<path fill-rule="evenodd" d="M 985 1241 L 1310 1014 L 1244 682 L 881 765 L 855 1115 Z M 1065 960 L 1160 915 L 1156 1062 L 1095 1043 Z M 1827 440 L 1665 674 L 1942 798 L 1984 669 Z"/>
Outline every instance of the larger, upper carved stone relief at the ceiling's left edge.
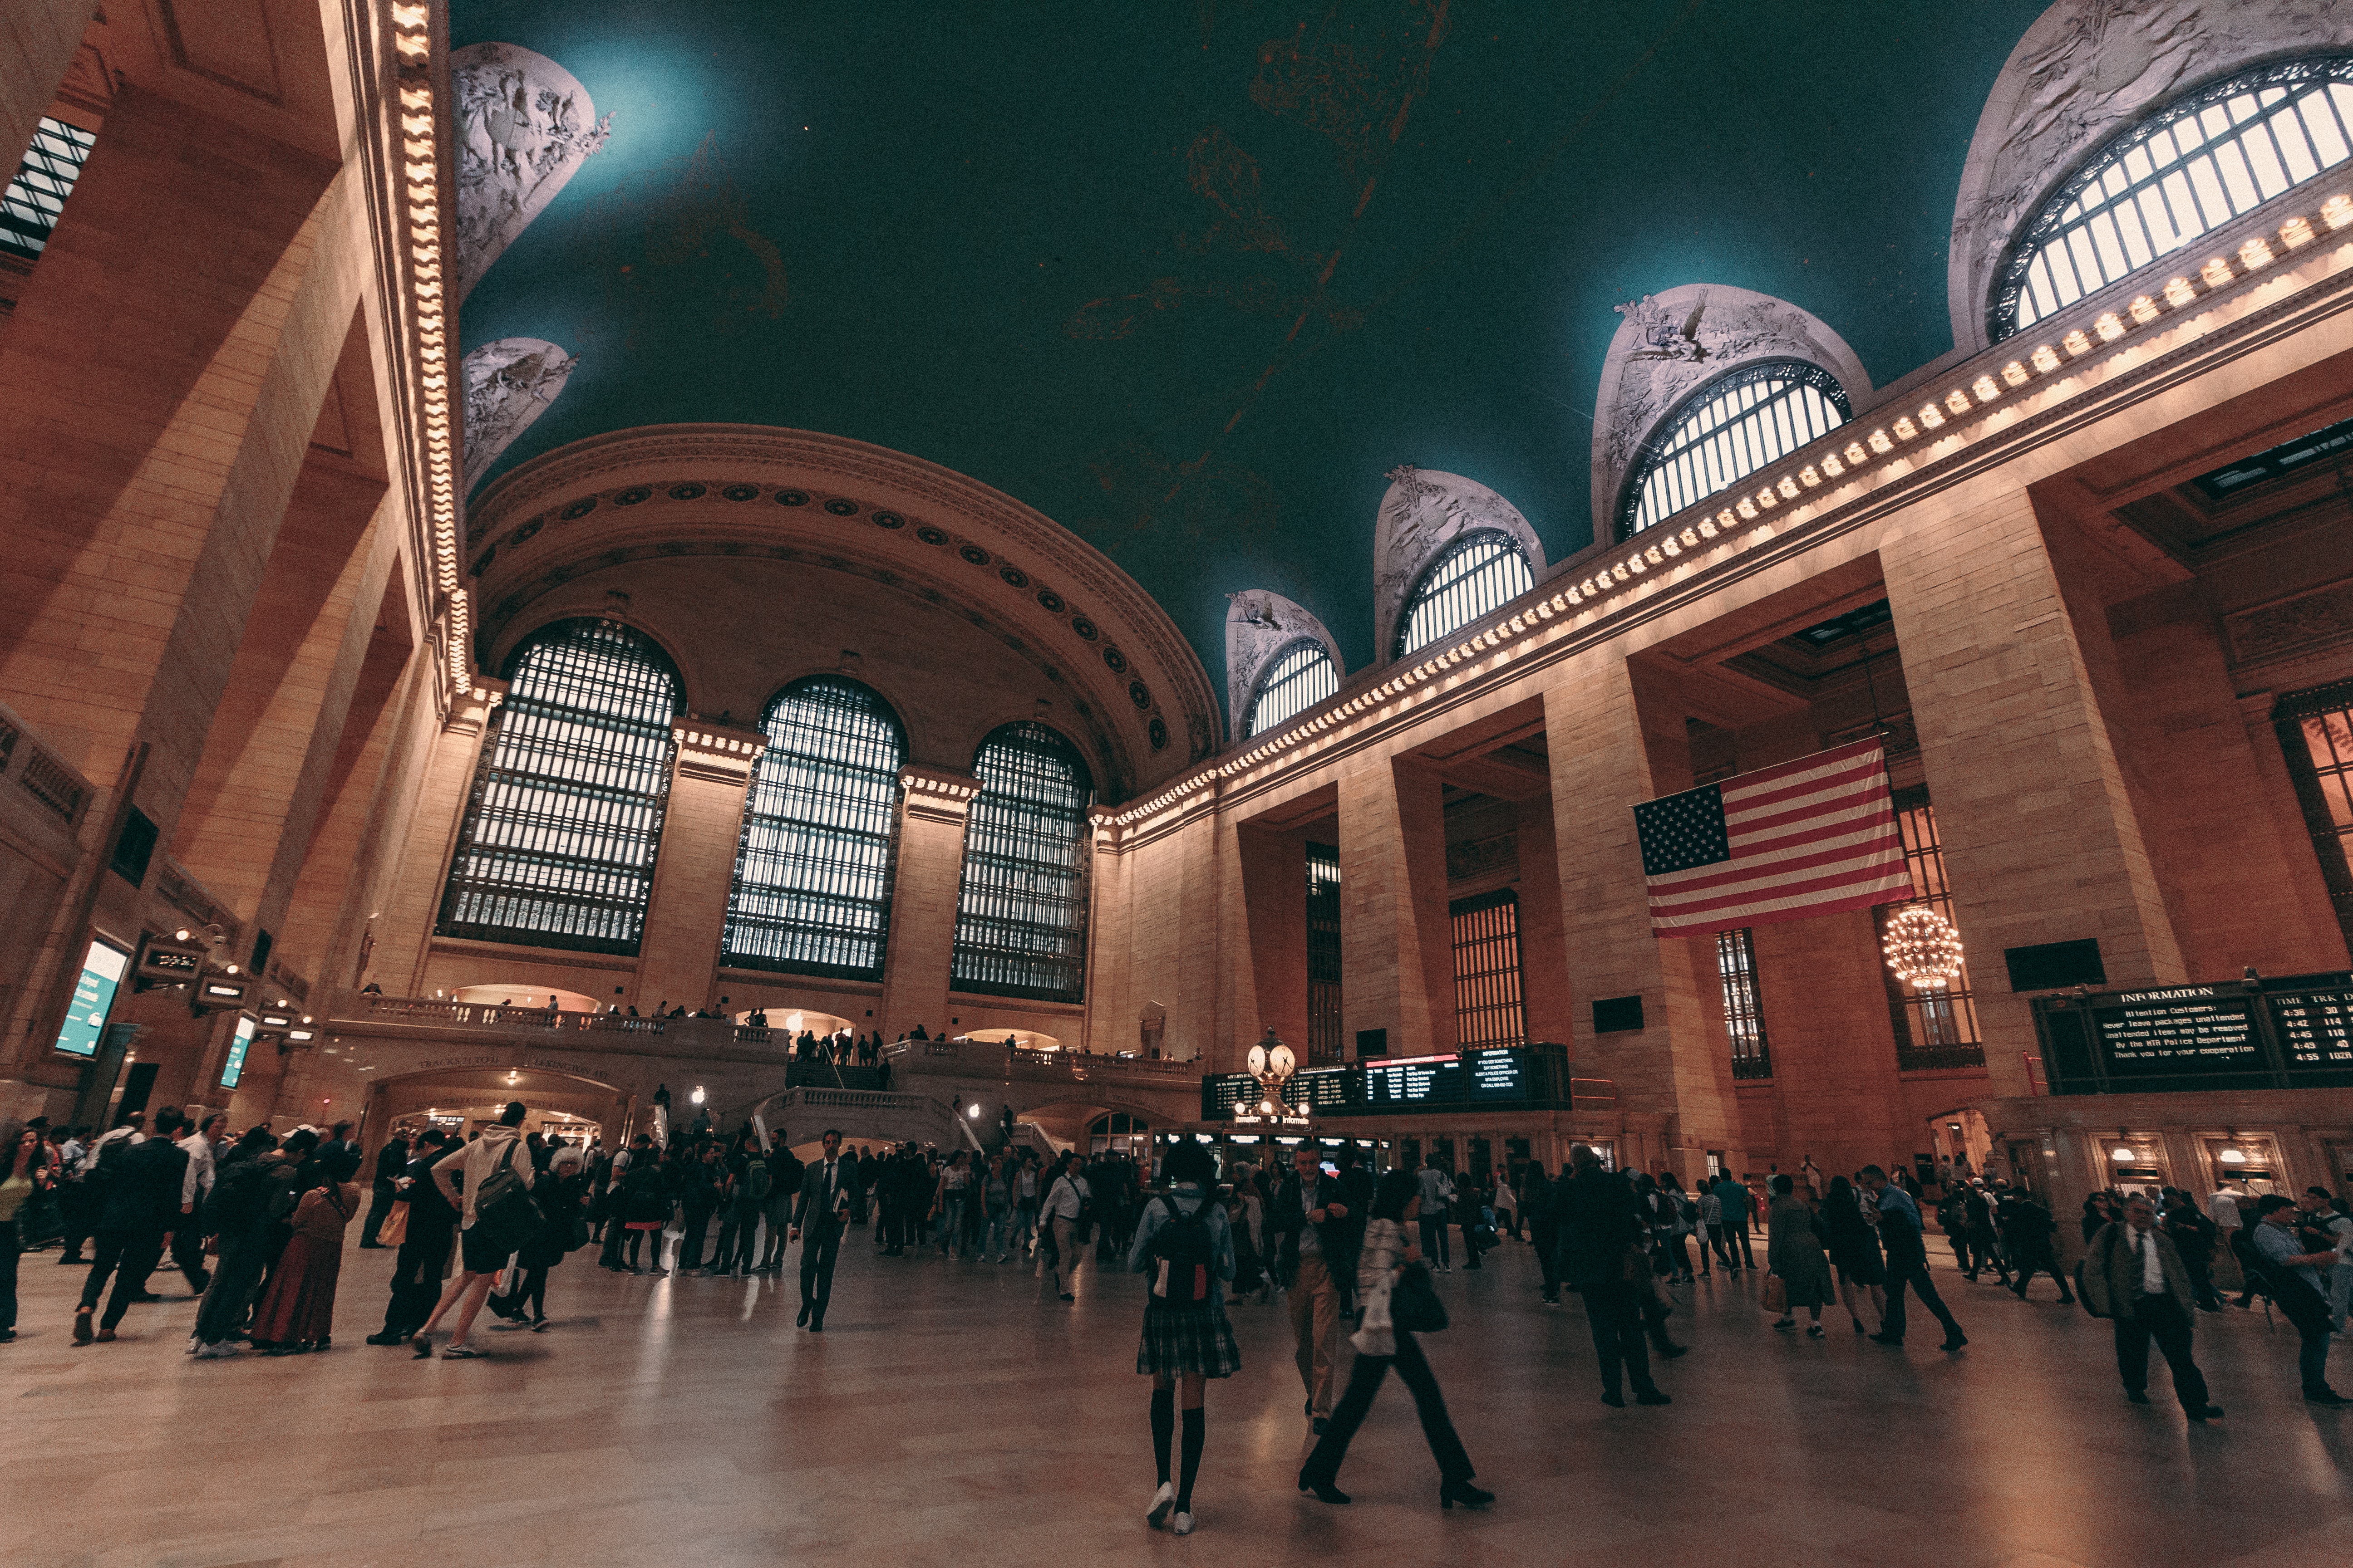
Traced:
<path fill-rule="evenodd" d="M 456 296 L 555 200 L 612 129 L 569 71 L 515 45 L 449 52 L 456 101 Z"/>

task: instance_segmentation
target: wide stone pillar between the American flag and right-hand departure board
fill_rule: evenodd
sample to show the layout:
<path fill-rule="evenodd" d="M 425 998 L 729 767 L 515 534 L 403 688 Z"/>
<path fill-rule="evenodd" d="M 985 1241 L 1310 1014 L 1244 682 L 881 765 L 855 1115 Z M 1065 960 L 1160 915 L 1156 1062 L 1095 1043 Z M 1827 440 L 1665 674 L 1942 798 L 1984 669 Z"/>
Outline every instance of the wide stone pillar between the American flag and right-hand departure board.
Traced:
<path fill-rule="evenodd" d="M 2125 771 L 2026 491 L 1932 498 L 1880 543 L 1986 1072 L 2033 1093 L 2002 950 L 2099 938 L 2111 985 L 2181 980 Z"/>

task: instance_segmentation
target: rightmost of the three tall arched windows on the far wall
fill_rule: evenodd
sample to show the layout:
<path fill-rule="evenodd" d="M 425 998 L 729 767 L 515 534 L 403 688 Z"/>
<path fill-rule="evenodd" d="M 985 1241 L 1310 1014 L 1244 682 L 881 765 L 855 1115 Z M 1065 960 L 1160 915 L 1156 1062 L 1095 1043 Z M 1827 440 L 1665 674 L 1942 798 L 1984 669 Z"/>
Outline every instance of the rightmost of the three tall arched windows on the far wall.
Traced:
<path fill-rule="evenodd" d="M 1087 764 L 1045 724 L 1007 724 L 972 762 L 951 985 L 1078 1001 L 1087 971 Z"/>

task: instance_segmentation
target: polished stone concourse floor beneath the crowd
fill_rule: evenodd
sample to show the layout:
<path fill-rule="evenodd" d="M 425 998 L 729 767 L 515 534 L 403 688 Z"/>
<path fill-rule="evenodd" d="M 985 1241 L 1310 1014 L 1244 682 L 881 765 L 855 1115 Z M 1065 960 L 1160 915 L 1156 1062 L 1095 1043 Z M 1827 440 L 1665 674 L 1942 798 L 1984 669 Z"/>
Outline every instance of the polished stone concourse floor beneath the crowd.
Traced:
<path fill-rule="evenodd" d="M 1151 1436 L 1134 1375 L 1141 1281 L 1082 1274 L 1078 1305 L 1016 1265 L 842 1248 L 824 1338 L 798 1286 L 631 1279 L 576 1253 L 548 1333 L 478 1331 L 482 1361 L 412 1361 L 381 1324 L 391 1253 L 346 1255 L 327 1354 L 191 1361 L 195 1307 L 134 1307 L 71 1342 L 78 1269 L 24 1260 L 0 1347 L 0 1561 L 372 1563 L 1866 1563 L 2146 1568 L 2353 1561 L 2353 1413 L 2297 1399 L 2294 1333 L 2202 1316 L 2228 1420 L 2122 1401 L 2108 1331 L 2049 1300 L 1939 1281 L 1969 1349 L 1920 1328 L 1889 1352 L 1833 1307 L 1826 1340 L 1772 1333 L 1758 1274 L 1687 1288 L 1673 1408 L 1595 1394 L 1581 1309 L 1537 1300 L 1525 1246 L 1440 1279 L 1426 1340 L 1487 1514 L 1440 1514 L 1395 1382 L 1341 1476 L 1299 1497 L 1306 1425 L 1278 1305 L 1233 1309 L 1245 1371 L 1209 1392 L 1200 1530 L 1146 1530 Z M 1574 1298 L 1572 1298 L 1574 1302 Z M 2353 1389 L 2353 1345 L 2339 1387 Z"/>

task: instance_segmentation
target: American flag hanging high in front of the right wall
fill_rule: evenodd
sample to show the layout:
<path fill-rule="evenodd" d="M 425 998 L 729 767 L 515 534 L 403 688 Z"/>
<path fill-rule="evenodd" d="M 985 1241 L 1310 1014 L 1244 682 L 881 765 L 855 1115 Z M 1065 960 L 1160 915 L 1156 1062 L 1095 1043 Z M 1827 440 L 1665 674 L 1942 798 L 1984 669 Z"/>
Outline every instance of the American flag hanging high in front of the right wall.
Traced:
<path fill-rule="evenodd" d="M 1913 898 L 1878 741 L 1642 802 L 1633 823 L 1652 936 Z"/>

